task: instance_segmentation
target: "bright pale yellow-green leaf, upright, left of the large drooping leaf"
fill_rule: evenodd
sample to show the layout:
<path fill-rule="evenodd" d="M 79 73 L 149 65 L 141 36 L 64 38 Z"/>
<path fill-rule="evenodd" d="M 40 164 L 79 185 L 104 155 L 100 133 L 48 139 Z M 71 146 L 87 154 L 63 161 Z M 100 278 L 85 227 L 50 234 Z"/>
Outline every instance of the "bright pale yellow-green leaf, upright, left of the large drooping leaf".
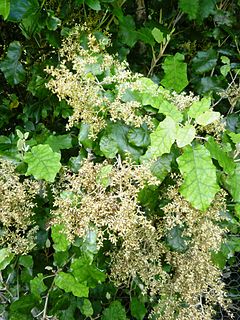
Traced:
<path fill-rule="evenodd" d="M 151 146 L 148 152 L 152 157 L 160 157 L 164 153 L 170 153 L 171 147 L 176 139 L 176 122 L 166 117 L 157 129 L 150 134 Z"/>

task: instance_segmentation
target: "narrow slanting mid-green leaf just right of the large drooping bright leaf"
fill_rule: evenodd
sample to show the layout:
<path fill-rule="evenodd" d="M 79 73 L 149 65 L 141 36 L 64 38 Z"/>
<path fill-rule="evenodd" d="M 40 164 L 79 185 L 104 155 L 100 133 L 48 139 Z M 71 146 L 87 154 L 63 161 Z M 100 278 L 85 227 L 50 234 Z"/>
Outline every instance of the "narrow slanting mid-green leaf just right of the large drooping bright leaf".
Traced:
<path fill-rule="evenodd" d="M 233 159 L 223 151 L 221 146 L 213 137 L 208 138 L 208 141 L 205 143 L 205 147 L 210 151 L 212 158 L 218 161 L 219 165 L 226 173 L 232 174 L 234 172 L 236 165 Z"/>

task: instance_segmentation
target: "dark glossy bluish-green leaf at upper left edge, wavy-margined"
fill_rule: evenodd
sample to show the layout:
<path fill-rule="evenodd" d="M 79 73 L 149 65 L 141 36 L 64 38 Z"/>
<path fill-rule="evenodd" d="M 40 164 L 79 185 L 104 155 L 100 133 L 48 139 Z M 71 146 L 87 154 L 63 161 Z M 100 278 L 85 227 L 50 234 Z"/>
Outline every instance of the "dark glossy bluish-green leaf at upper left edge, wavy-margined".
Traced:
<path fill-rule="evenodd" d="M 10 85 L 16 85 L 25 79 L 25 70 L 19 62 L 22 47 L 19 41 L 10 43 L 7 51 L 7 57 L 0 62 L 0 69 L 4 73 L 7 82 Z"/>

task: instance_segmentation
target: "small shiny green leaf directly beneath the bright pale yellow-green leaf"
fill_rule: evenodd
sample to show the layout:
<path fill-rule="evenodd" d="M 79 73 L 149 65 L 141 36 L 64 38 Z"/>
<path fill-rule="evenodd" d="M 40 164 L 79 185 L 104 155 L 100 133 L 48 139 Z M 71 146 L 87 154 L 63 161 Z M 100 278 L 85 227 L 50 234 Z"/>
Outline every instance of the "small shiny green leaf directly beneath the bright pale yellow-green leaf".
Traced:
<path fill-rule="evenodd" d="M 151 166 L 151 172 L 160 181 L 163 181 L 167 174 L 171 172 L 171 163 L 173 156 L 171 154 L 163 154 Z"/>

